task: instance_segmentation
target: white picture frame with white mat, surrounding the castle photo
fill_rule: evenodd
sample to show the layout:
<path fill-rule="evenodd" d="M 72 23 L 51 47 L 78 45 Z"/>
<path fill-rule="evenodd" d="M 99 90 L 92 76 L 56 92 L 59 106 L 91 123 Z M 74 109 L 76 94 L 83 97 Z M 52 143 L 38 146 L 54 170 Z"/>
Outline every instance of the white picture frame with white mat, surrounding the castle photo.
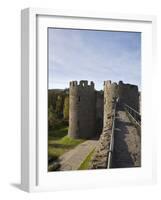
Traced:
<path fill-rule="evenodd" d="M 143 166 L 138 169 L 92 170 L 48 173 L 46 130 L 47 38 L 46 28 L 66 27 L 142 32 Z M 21 187 L 25 191 L 96 188 L 156 182 L 155 133 L 147 106 L 152 109 L 148 89 L 152 82 L 156 51 L 156 18 L 98 12 L 28 8 L 21 13 Z M 39 60 L 41 59 L 41 60 Z M 153 67 L 152 67 L 153 66 Z M 45 97 L 45 98 L 44 98 Z M 42 108 L 43 107 L 43 108 Z M 47 108 L 46 108 L 47 109 Z M 43 116 L 43 117 L 42 117 Z M 41 122 L 41 123 L 40 123 Z M 41 156 L 40 156 L 41 154 Z"/>

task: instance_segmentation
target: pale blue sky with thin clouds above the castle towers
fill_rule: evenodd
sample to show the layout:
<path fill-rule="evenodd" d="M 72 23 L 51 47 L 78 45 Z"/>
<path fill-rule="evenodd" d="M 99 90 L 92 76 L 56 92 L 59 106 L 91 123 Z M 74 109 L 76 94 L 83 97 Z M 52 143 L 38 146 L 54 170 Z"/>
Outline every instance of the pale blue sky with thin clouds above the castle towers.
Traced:
<path fill-rule="evenodd" d="M 67 88 L 69 81 L 141 85 L 141 33 L 48 29 L 48 85 Z"/>

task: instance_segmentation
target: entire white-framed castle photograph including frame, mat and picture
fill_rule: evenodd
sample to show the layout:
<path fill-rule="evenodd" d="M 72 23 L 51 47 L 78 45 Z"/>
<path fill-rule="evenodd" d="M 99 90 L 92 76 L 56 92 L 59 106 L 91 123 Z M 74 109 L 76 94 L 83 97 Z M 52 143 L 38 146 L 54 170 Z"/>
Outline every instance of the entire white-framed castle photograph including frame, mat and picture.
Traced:
<path fill-rule="evenodd" d="M 21 18 L 22 188 L 154 183 L 155 17 L 30 8 Z"/>

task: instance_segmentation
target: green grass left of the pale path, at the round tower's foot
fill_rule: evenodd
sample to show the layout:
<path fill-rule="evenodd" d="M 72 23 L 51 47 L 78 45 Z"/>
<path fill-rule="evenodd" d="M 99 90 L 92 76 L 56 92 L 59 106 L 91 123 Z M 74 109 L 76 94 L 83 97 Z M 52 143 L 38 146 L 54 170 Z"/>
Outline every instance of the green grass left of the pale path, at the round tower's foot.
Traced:
<path fill-rule="evenodd" d="M 84 142 L 82 139 L 72 139 L 67 136 L 68 127 L 63 126 L 58 130 L 50 130 L 48 137 L 48 156 L 54 160 L 65 152 Z"/>

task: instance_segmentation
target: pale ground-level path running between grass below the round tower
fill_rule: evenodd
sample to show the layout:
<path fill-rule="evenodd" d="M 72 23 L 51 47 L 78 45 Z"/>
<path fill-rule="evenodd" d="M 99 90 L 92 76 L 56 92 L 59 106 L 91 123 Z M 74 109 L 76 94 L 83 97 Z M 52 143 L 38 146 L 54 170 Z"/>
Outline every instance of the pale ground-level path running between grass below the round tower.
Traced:
<path fill-rule="evenodd" d="M 96 147 L 97 140 L 87 140 L 60 156 L 60 171 L 77 170 L 88 154 Z"/>

